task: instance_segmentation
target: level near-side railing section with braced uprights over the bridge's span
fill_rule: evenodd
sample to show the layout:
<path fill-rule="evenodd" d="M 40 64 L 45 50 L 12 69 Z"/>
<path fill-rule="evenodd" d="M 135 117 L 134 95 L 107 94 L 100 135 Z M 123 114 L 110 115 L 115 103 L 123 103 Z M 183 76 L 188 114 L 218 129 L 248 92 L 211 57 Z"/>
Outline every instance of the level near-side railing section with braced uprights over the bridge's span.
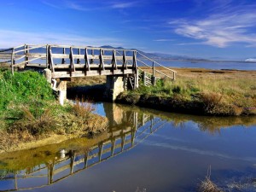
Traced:
<path fill-rule="evenodd" d="M 123 55 L 117 55 L 117 51 L 122 51 Z M 53 73 L 55 69 L 69 68 L 71 72 L 84 70 L 87 76 L 90 76 L 90 71 L 94 69 L 103 74 L 109 73 L 104 72 L 105 70 L 111 70 L 113 74 L 121 74 L 133 73 L 137 67 L 136 51 L 129 49 L 49 45 L 48 59 L 49 68 Z M 119 69 L 121 71 L 118 71 Z"/>

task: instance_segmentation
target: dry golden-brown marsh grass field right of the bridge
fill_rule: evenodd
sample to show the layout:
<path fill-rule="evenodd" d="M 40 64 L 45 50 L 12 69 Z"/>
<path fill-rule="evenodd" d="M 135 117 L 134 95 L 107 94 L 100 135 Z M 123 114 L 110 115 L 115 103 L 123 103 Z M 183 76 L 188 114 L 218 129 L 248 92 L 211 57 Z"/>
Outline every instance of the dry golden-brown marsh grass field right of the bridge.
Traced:
<path fill-rule="evenodd" d="M 143 70 L 151 72 L 147 67 Z M 162 73 L 165 68 L 158 67 Z M 209 114 L 256 114 L 256 71 L 175 68 L 177 79 L 164 81 L 166 90 L 179 90 L 187 100 L 201 99 Z M 156 76 L 162 77 L 160 74 Z M 168 91 L 166 91 L 168 92 Z M 172 96 L 172 93 L 170 94 Z"/>

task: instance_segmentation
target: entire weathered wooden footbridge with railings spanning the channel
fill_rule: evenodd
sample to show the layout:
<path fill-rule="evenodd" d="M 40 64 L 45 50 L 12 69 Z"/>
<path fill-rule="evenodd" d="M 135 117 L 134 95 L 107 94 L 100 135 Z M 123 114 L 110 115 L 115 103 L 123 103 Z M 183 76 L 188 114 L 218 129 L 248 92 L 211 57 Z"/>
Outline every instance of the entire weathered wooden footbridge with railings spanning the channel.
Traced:
<path fill-rule="evenodd" d="M 155 84 L 157 76 L 175 79 L 176 72 L 159 62 L 148 58 L 135 49 L 108 49 L 96 47 L 67 46 L 55 44 L 21 45 L 0 50 L 0 66 L 11 67 L 12 73 L 21 68 L 46 69 L 49 82 L 55 90 L 65 90 L 65 83 L 58 88 L 55 79 L 67 81 L 70 78 L 86 76 L 107 76 L 108 90 L 136 89 L 139 79 L 146 85 Z M 147 74 L 139 67 L 151 68 Z M 162 73 L 158 67 L 165 68 Z M 121 84 L 121 85 L 115 85 Z M 63 89 L 64 87 L 64 89 Z"/>

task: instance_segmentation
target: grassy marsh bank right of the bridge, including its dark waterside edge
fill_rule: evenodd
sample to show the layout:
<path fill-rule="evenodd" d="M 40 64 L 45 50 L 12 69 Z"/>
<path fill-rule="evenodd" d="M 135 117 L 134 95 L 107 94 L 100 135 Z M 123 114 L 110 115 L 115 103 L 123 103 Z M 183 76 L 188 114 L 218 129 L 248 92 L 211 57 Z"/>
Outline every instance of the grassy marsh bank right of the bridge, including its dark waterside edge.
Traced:
<path fill-rule="evenodd" d="M 143 71 L 152 73 L 147 67 Z M 162 73 L 166 69 L 158 67 Z M 256 114 L 256 72 L 175 68 L 177 79 L 163 79 L 156 86 L 140 84 L 137 90 L 125 91 L 116 102 L 155 108 L 168 112 L 236 116 Z M 160 74 L 156 74 L 161 77 Z M 102 84 L 104 79 L 73 79 L 70 86 Z M 88 91 L 87 91 L 88 90 Z M 90 91 L 89 91 L 90 90 Z M 73 96 L 90 96 L 98 89 L 73 89 Z M 96 94 L 100 96 L 101 94 Z M 96 100 L 99 100 L 99 98 Z"/>

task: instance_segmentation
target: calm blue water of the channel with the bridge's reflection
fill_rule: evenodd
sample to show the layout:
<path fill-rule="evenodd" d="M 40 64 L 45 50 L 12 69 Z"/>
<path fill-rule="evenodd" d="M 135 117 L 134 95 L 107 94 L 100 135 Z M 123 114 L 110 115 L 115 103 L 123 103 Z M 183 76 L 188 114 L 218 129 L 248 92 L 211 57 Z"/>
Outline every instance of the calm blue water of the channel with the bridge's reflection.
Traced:
<path fill-rule="evenodd" d="M 256 191 L 256 118 L 214 118 L 97 103 L 108 136 L 0 157 L 0 190 L 195 191 L 211 166 L 224 189 Z M 227 190 L 228 191 L 228 190 Z M 233 190 L 238 191 L 238 190 Z"/>

